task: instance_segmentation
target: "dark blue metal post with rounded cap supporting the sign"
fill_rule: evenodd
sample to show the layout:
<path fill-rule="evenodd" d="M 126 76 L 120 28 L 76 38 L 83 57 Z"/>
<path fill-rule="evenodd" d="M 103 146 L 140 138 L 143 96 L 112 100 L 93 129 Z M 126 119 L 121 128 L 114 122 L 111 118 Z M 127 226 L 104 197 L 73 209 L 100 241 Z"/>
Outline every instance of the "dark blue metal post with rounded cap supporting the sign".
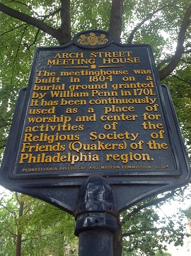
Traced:
<path fill-rule="evenodd" d="M 88 177 L 79 190 L 75 235 L 79 256 L 112 256 L 112 237 L 117 230 L 115 194 L 100 176 Z"/>

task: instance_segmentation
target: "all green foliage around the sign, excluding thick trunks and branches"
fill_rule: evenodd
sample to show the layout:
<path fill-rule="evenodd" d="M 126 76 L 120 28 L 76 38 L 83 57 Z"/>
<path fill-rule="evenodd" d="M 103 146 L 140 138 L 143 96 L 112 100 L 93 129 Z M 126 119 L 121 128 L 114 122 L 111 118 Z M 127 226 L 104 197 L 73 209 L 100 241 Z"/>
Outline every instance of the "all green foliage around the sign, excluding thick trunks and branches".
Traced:
<path fill-rule="evenodd" d="M 52 28 L 61 26 L 61 1 L 4 0 L 3 4 L 44 21 Z M 111 0 L 71 0 L 71 34 L 88 29 L 110 28 Z M 190 5 L 189 0 L 124 0 L 122 16 L 122 43 L 151 44 L 158 69 L 166 67 L 176 48 L 178 33 Z M 185 34 L 184 54 L 176 69 L 163 81 L 170 87 L 183 133 L 187 152 L 191 155 L 191 72 L 190 27 Z M 134 34 L 132 31 L 134 30 Z M 132 40 L 129 41 L 129 36 Z M 40 45 L 58 45 L 57 39 L 35 26 L 19 21 L 4 13 L 0 16 L 0 155 L 4 152 L 18 91 L 27 87 L 34 50 Z M 171 200 L 184 199 L 178 190 Z M 19 201 L 24 201 L 23 216 L 18 217 Z M 150 204 L 149 199 L 135 208 Z M 182 245 L 186 235 L 182 223 L 183 213 L 161 218 L 158 207 L 149 206 L 134 212 L 134 208 L 121 215 L 124 233 L 123 255 L 169 255 L 163 250 L 167 243 Z M 190 211 L 187 211 L 190 216 Z M 0 204 L 0 255 L 14 255 L 16 235 L 22 233 L 22 256 L 64 255 L 74 250 L 74 218 L 37 199 L 12 194 L 4 195 Z M 126 235 L 125 235 L 126 234 Z M 158 251 L 159 250 L 159 251 Z M 160 254 L 162 253 L 162 254 Z"/>

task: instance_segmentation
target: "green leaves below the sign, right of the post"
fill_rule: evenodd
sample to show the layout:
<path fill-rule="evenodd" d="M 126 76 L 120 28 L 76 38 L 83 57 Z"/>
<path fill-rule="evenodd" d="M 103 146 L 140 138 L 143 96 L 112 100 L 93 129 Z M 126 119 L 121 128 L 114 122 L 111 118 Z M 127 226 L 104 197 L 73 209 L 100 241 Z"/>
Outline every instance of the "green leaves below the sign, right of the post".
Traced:
<path fill-rule="evenodd" d="M 185 191 L 188 191 L 187 198 L 190 198 L 188 188 L 177 189 L 168 199 L 162 200 L 168 193 L 147 199 L 121 214 L 123 256 L 155 256 L 162 252 L 166 255 L 167 245 L 183 245 L 187 237 L 185 211 L 177 208 L 169 214 L 165 204 L 170 208 L 178 201 L 183 202 L 187 199 Z"/>

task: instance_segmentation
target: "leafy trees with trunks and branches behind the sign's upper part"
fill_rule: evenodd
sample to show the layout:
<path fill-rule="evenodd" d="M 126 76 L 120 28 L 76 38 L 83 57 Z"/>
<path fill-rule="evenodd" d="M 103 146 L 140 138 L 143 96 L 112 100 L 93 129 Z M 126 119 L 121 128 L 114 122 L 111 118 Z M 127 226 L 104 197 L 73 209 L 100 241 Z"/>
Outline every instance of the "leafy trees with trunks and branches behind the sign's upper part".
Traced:
<path fill-rule="evenodd" d="M 190 145 L 189 0 L 5 0 L 0 11 L 1 152 L 18 90 L 27 86 L 35 46 L 63 45 L 75 33 L 88 29 L 110 30 L 122 43 L 151 44 L 158 74 L 171 89 Z"/>

